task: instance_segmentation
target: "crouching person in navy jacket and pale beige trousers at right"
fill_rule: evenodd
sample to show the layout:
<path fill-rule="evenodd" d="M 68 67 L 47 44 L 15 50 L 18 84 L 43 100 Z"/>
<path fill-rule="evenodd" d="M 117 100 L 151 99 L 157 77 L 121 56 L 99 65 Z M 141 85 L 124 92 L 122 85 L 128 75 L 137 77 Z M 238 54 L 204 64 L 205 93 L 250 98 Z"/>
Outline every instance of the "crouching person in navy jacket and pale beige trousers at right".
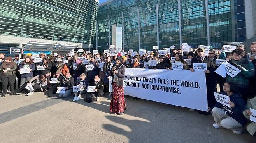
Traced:
<path fill-rule="evenodd" d="M 233 82 L 226 82 L 223 85 L 224 92 L 220 94 L 230 97 L 228 103 L 231 107 L 217 102 L 212 108 L 212 116 L 214 117 L 214 128 L 226 128 L 236 134 L 242 134 L 244 126 L 247 122 L 243 115 L 245 109 L 245 101 L 238 92 L 238 87 Z"/>

